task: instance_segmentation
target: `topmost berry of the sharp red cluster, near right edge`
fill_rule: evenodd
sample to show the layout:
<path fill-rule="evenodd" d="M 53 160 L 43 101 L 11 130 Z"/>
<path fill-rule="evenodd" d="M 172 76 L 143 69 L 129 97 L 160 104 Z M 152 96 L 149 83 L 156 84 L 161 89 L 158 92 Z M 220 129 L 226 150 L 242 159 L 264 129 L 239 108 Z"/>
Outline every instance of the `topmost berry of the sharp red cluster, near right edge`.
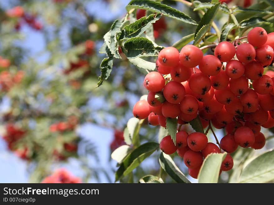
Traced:
<path fill-rule="evenodd" d="M 267 32 L 262 27 L 255 27 L 248 32 L 247 40 L 253 46 L 262 46 L 267 42 Z"/>

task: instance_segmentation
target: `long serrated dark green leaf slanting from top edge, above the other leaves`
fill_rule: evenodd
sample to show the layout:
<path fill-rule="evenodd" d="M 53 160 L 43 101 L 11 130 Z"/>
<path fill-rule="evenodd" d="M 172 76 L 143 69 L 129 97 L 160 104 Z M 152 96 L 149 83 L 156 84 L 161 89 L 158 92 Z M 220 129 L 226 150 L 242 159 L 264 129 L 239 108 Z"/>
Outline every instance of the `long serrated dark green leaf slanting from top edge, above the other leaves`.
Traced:
<path fill-rule="evenodd" d="M 132 0 L 126 6 L 127 11 L 132 8 L 145 9 L 156 13 L 163 13 L 163 15 L 180 20 L 185 23 L 197 25 L 197 23 L 188 15 L 179 10 L 162 4 L 160 2 L 154 2 L 150 0 Z"/>

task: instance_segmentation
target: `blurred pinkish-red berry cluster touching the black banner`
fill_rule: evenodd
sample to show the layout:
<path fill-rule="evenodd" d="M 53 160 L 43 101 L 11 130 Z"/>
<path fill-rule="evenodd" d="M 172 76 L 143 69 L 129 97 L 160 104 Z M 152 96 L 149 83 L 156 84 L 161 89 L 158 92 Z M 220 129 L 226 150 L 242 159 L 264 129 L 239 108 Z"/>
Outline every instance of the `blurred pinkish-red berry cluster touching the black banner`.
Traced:
<path fill-rule="evenodd" d="M 57 169 L 52 175 L 43 179 L 41 183 L 81 183 L 81 179 L 73 176 L 66 169 Z"/>

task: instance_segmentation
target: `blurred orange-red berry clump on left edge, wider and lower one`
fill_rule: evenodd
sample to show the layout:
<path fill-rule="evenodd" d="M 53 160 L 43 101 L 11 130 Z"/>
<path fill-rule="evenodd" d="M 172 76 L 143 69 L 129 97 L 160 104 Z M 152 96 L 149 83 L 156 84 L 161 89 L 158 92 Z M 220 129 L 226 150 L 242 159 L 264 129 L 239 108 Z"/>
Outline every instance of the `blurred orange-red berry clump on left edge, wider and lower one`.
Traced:
<path fill-rule="evenodd" d="M 2 91 L 10 90 L 14 85 L 21 82 L 24 77 L 24 71 L 17 71 L 15 75 L 12 75 L 9 71 L 2 71 L 0 73 L 0 89 Z"/>

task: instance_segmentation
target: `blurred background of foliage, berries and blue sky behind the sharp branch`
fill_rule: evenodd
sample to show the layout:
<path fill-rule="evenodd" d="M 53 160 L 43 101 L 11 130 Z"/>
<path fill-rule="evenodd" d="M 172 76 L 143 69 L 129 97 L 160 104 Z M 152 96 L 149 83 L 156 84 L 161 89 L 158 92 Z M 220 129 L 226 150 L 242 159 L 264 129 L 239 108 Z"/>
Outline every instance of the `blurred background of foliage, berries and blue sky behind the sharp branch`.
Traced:
<path fill-rule="evenodd" d="M 0 2 L 1 136 L 7 147 L 4 151 L 9 150 L 26 161 L 29 182 L 41 182 L 56 166 L 71 158 L 83 170 L 83 182 L 114 182 L 117 168 L 110 153 L 124 144 L 121 130 L 132 117 L 131 110 L 139 96 L 147 94 L 142 86 L 146 72 L 121 53 L 122 60 L 114 60 L 111 76 L 96 88 L 104 57 L 98 51 L 112 22 L 124 17 L 128 2 Z M 199 22 L 197 12 L 179 1 L 163 2 Z M 218 16 L 219 26 L 227 21 L 222 17 Z M 164 21 L 165 29 L 154 33 L 158 45 L 170 46 L 196 29 L 167 17 Z M 273 27 L 267 30 L 271 31 Z M 32 39 L 33 32 L 38 33 L 38 39 Z M 108 136 L 102 129 L 108 130 Z M 185 129 L 191 128 L 186 125 Z M 222 130 L 217 133 L 223 134 Z M 147 122 L 139 134 L 142 142 L 158 141 L 157 127 Z M 103 144 L 107 151 L 102 153 L 102 147 L 92 138 L 102 141 L 100 146 Z M 106 140 L 110 138 L 111 144 Z M 136 182 L 146 174 L 157 175 L 158 155 L 159 152 L 154 153 L 135 169 L 134 176 L 121 182 Z M 101 166 L 102 158 L 107 158 L 106 166 Z M 182 160 L 177 156 L 174 160 L 186 173 Z M 163 178 L 165 182 L 173 182 L 168 176 Z M 227 178 L 224 176 L 223 180 Z"/>

